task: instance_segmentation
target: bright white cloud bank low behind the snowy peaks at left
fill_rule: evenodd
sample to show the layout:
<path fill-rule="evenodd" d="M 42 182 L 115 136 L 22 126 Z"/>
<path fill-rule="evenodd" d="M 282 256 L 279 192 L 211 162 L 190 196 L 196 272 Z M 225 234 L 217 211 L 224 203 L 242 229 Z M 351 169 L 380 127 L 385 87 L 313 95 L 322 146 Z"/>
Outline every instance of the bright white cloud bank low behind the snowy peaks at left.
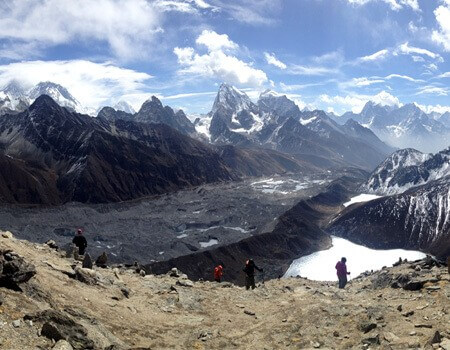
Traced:
<path fill-rule="evenodd" d="M 147 73 L 119 68 L 109 62 L 27 61 L 0 66 L 0 86 L 13 79 L 27 88 L 41 81 L 52 81 L 66 87 L 83 106 L 94 108 L 122 95 L 141 92 L 150 78 Z"/>

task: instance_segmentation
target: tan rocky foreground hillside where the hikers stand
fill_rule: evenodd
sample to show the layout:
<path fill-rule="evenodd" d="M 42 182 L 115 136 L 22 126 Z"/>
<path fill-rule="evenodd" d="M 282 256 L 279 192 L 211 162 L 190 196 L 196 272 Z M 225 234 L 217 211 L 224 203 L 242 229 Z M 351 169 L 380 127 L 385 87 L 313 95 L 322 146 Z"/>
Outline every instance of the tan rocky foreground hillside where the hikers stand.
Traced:
<path fill-rule="evenodd" d="M 65 256 L 0 233 L 1 349 L 450 349 L 450 277 L 432 259 L 344 290 L 289 278 L 246 291 Z"/>

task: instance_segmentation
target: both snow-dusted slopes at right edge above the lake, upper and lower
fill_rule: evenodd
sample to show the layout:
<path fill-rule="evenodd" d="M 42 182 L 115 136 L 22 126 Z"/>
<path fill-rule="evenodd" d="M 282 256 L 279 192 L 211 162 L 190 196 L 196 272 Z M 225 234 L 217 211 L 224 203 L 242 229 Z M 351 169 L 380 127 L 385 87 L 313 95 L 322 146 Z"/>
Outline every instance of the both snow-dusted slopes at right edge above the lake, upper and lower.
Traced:
<path fill-rule="evenodd" d="M 381 198 L 349 206 L 328 231 L 378 249 L 450 255 L 450 148 L 436 154 L 399 150 L 362 186 Z"/>

